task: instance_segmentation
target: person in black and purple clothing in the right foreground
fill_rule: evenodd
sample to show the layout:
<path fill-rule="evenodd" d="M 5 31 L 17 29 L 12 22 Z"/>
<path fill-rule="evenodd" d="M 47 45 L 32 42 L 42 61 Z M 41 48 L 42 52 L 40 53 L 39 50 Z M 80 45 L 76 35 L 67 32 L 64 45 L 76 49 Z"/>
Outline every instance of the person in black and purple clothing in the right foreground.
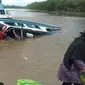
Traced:
<path fill-rule="evenodd" d="M 62 85 L 84 85 L 80 73 L 85 71 L 85 31 L 68 47 L 58 70 Z"/>

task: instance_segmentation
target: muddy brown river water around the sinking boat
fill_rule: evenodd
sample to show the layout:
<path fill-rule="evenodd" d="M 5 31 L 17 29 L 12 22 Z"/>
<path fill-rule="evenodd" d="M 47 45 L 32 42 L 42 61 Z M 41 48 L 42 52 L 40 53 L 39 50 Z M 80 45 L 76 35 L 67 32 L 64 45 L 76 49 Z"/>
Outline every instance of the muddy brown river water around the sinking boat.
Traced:
<path fill-rule="evenodd" d="M 60 85 L 56 78 L 60 62 L 72 40 L 85 30 L 85 18 L 26 9 L 7 10 L 14 18 L 52 24 L 62 30 L 24 41 L 0 41 L 0 81 L 5 85 L 16 85 L 18 79 L 32 79 L 42 85 Z"/>

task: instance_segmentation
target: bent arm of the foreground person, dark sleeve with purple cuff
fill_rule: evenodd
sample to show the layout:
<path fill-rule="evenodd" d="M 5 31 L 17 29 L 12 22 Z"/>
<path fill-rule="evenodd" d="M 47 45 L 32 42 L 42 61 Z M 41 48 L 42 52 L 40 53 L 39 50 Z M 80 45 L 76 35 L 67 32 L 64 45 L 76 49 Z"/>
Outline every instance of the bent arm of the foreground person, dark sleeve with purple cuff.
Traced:
<path fill-rule="evenodd" d="M 74 50 L 71 59 L 80 70 L 85 70 L 85 43 L 80 43 Z"/>

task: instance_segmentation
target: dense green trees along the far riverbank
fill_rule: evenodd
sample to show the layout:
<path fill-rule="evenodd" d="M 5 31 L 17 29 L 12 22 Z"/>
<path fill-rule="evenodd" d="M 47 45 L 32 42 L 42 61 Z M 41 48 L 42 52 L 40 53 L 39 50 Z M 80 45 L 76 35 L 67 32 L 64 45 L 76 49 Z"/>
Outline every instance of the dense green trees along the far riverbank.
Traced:
<path fill-rule="evenodd" d="M 85 12 L 85 0 L 47 0 L 28 4 L 25 8 L 45 11 Z"/>

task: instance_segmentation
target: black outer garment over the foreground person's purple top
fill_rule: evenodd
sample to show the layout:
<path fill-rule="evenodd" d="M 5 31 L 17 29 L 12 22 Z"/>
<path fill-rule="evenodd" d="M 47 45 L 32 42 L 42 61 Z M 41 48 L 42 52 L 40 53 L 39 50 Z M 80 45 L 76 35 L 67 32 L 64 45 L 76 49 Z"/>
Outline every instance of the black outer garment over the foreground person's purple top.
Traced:
<path fill-rule="evenodd" d="M 64 65 L 70 69 L 73 60 L 81 60 L 85 62 L 85 38 L 76 38 L 68 47 L 64 55 Z"/>

